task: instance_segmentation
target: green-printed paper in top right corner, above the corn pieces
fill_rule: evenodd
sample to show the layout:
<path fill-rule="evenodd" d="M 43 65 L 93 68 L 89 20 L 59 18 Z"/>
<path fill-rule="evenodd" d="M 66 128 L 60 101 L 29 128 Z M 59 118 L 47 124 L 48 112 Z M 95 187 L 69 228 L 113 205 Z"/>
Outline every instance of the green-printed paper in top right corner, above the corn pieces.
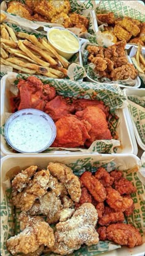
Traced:
<path fill-rule="evenodd" d="M 114 12 L 116 18 L 128 16 L 145 22 L 145 7 L 138 1 L 100 1 L 96 6 L 96 14 Z"/>

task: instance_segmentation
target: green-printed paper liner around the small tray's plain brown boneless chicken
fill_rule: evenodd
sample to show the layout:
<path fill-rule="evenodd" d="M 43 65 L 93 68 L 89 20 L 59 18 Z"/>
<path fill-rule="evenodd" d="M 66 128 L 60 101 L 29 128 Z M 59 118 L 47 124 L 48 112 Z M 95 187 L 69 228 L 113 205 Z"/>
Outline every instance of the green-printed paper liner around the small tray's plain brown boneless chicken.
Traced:
<path fill-rule="evenodd" d="M 92 37 L 92 38 L 95 40 L 94 37 Z M 104 42 L 104 44 L 105 44 L 105 42 Z M 104 44 L 103 44 L 103 46 L 104 46 Z M 108 84 L 122 84 L 124 86 L 135 86 L 135 84 L 136 84 L 135 79 L 128 78 L 125 80 L 111 81 L 108 78 L 103 78 L 103 77 L 99 76 L 99 74 L 97 74 L 95 71 L 95 64 L 88 63 L 88 50 L 87 50 L 88 45 L 98 46 L 100 44 L 98 44 L 98 41 L 96 39 L 96 43 L 84 42 L 84 44 L 82 44 L 82 47 L 81 47 L 83 66 L 84 66 L 85 71 L 89 78 L 95 80 L 96 82 L 106 82 Z M 109 44 L 109 45 L 112 45 L 112 44 Z M 130 63 L 130 62 L 128 62 L 128 63 Z"/>

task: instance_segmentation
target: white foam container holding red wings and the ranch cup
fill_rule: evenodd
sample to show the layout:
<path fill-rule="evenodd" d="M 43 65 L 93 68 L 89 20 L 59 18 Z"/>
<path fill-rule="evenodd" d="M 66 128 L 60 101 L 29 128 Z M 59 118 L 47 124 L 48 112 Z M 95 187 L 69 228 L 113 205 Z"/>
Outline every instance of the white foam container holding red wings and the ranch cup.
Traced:
<path fill-rule="evenodd" d="M 16 78 L 16 73 L 13 73 L 14 78 Z M 10 104 L 9 98 L 7 97 L 7 92 L 10 89 L 10 81 L 12 79 L 12 73 L 7 74 L 1 79 L 1 116 L 6 113 L 10 113 Z M 133 125 L 130 119 L 130 114 L 128 112 L 128 108 L 120 108 L 117 110 L 117 116 L 120 118 L 120 125 L 117 129 L 119 133 L 120 146 L 117 150 L 117 153 L 138 153 L 138 147 L 135 140 L 135 134 L 133 132 Z M 2 140 L 3 141 L 3 140 Z M 7 154 L 15 154 L 12 153 L 7 147 L 6 143 L 1 142 L 1 153 L 2 155 Z M 53 151 L 53 153 L 49 154 L 81 154 L 80 151 Z M 17 153 L 18 154 L 18 153 Z M 45 153 L 48 154 L 48 153 Z M 84 154 L 84 153 L 82 153 Z"/>

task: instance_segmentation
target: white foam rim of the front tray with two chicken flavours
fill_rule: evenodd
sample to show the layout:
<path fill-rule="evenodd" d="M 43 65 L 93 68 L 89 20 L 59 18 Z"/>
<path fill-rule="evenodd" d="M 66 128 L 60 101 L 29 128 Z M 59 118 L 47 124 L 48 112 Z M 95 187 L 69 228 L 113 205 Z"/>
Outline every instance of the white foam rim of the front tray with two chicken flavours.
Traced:
<path fill-rule="evenodd" d="M 124 164 L 126 164 L 127 169 L 131 169 L 134 166 L 141 166 L 141 160 L 133 154 L 84 154 L 84 156 L 48 156 L 46 154 L 34 154 L 33 158 L 31 156 L 26 156 L 25 154 L 15 155 L 15 156 L 5 156 L 1 159 L 1 183 L 6 180 L 6 173 L 9 169 L 14 167 L 20 167 L 24 169 L 31 165 L 37 165 L 41 168 L 45 168 L 49 162 L 61 162 L 63 164 L 72 164 L 73 162 L 82 163 L 81 159 L 91 159 L 93 162 L 114 162 L 114 167 L 118 167 L 119 170 L 123 170 Z M 4 191 L 1 186 L 1 198 L 3 198 Z M 8 219 L 8 218 L 7 218 Z M 5 223 L 7 224 L 7 223 Z M 91 252 L 90 252 L 91 254 Z M 109 252 L 104 252 L 104 254 L 97 254 L 98 256 L 143 256 L 144 255 L 144 244 L 142 246 L 136 246 L 134 248 L 128 248 L 122 246 L 120 249 L 112 250 Z"/>

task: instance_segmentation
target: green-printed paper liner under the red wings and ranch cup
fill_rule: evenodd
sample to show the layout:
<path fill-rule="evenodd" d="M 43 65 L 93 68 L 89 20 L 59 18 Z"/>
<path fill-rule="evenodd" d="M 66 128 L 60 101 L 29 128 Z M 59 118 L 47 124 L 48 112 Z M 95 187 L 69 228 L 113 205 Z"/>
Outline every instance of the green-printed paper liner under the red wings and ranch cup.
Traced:
<path fill-rule="evenodd" d="M 28 78 L 27 74 L 16 74 L 11 73 L 12 75 L 9 76 L 9 81 L 13 84 L 12 90 L 17 89 L 18 78 L 26 79 Z M 70 81 L 64 79 L 52 79 L 52 78 L 45 78 L 42 76 L 36 76 L 37 78 L 41 79 L 44 84 L 50 84 L 53 86 L 57 94 L 63 95 L 64 97 L 74 97 L 74 98 L 86 98 L 86 99 L 96 99 L 96 100 L 103 100 L 104 104 L 109 106 L 111 111 L 111 119 L 109 120 L 109 129 L 111 130 L 112 136 L 116 136 L 116 131 L 119 135 L 119 138 L 122 137 L 122 129 L 120 127 L 119 119 L 116 119 L 117 110 L 119 108 L 125 108 L 127 106 L 127 100 L 125 95 L 123 94 L 122 90 L 117 85 L 109 85 L 109 84 L 94 84 L 91 82 L 81 82 L 81 81 Z M 15 86 L 14 86 L 15 82 Z M 7 92 L 9 94 L 9 92 Z M 17 94 L 17 93 L 16 93 Z M 2 135 L 2 143 L 6 143 L 4 138 L 4 124 L 6 122 L 7 117 L 6 113 L 1 118 L 1 135 Z M 113 153 L 117 151 L 117 146 L 120 145 L 119 140 L 98 140 L 93 142 L 89 149 L 82 149 L 82 148 L 67 148 L 69 151 L 82 151 L 84 153 L 88 152 L 99 152 L 99 153 Z M 8 146 L 10 149 L 10 147 Z M 46 152 L 56 150 L 57 148 L 49 148 Z M 66 150 L 66 148 L 63 148 Z M 10 151 L 13 151 L 10 149 Z"/>

